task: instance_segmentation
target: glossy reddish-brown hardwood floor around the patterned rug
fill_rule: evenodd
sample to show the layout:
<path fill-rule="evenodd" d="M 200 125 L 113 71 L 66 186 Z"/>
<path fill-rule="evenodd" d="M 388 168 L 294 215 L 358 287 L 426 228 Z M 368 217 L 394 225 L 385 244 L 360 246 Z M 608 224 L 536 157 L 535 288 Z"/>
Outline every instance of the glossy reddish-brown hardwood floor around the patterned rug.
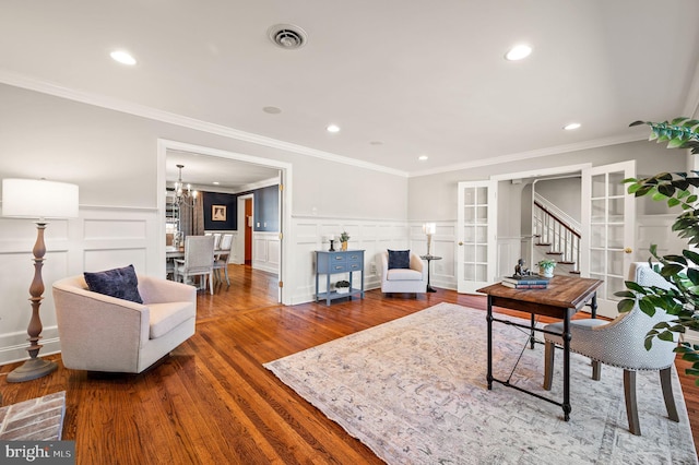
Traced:
<path fill-rule="evenodd" d="M 63 439 L 75 440 L 78 464 L 379 464 L 262 363 L 439 302 L 485 309 L 483 297 L 442 289 L 284 307 L 274 276 L 232 265 L 230 278 L 214 296 L 199 293 L 197 334 L 144 373 L 61 366 L 16 384 L 5 381 L 16 363 L 3 366 L 3 405 L 67 391 Z M 47 358 L 60 363 L 60 355 Z M 677 365 L 697 443 L 699 388 L 684 374 L 687 363 Z"/>

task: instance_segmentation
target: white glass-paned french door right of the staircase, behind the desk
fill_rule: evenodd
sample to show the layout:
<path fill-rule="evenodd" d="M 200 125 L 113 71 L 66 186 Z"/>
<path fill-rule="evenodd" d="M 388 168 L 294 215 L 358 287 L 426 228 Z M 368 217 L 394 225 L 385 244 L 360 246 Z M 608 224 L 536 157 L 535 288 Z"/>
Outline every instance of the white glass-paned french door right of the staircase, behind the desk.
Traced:
<path fill-rule="evenodd" d="M 624 179 L 636 176 L 636 162 L 621 162 L 582 170 L 582 239 L 580 272 L 604 281 L 597 289 L 597 313 L 618 315 L 619 300 L 633 259 L 636 202 Z"/>

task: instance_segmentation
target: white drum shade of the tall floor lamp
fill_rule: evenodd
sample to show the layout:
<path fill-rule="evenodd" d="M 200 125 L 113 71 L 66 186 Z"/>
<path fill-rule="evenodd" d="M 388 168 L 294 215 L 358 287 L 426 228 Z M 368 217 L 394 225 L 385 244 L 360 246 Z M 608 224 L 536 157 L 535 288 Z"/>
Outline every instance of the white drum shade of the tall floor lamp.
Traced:
<path fill-rule="evenodd" d="M 2 216 L 75 218 L 78 186 L 37 179 L 3 179 Z"/>

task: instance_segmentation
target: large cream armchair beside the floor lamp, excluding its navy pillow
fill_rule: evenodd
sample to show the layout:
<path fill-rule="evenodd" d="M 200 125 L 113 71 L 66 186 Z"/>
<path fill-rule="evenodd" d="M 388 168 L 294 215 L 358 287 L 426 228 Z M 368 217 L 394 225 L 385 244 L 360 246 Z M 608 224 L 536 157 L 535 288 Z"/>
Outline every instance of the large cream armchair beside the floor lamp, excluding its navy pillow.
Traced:
<path fill-rule="evenodd" d="M 87 289 L 82 275 L 54 283 L 66 368 L 140 373 L 194 334 L 197 289 L 138 276 L 143 303 Z"/>

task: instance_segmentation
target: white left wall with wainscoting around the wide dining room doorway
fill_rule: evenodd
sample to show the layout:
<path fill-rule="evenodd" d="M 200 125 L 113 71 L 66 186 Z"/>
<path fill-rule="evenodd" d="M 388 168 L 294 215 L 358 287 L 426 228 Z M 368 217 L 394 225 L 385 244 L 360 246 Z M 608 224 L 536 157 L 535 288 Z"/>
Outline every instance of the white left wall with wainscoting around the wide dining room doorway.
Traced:
<path fill-rule="evenodd" d="M 304 243 L 292 238 L 294 273 L 284 291 L 294 302 L 308 301 L 313 277 L 308 243 L 320 248 L 323 234 L 357 227 L 356 245 L 405 242 L 407 179 L 403 176 L 335 163 L 277 147 L 137 117 L 60 97 L 0 84 L 0 178 L 47 178 L 80 186 L 80 218 L 54 222 L 46 233 L 46 291 L 42 306 L 45 348 L 59 349 L 50 285 L 83 271 L 133 263 L 137 271 L 158 275 L 162 238 L 158 205 L 158 139 L 246 154 L 293 166 L 291 208 L 298 222 L 324 224 L 316 238 L 304 230 Z M 164 158 L 163 158 L 164 159 Z M 332 218 L 331 222 L 328 218 Z M 380 225 L 390 234 L 372 230 Z M 384 229 L 381 229 L 384 231 Z M 396 233 L 398 231 L 398 233 Z M 311 234 L 312 236 L 312 234 Z M 34 224 L 0 218 L 0 363 L 24 358 L 27 302 L 33 276 Z M 369 238 L 369 239 L 366 239 Z M 279 241 L 259 238 L 262 266 L 279 260 Z M 163 252 L 164 253 L 164 252 Z M 376 281 L 375 278 L 371 278 Z M 371 283 L 371 282 L 370 282 Z"/>

